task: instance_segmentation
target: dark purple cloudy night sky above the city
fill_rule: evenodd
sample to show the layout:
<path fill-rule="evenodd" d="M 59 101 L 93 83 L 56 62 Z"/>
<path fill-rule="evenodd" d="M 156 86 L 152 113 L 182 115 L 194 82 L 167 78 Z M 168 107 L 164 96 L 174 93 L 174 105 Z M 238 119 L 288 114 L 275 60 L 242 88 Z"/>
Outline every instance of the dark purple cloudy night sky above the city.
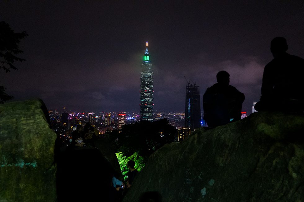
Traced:
<path fill-rule="evenodd" d="M 260 98 L 270 41 L 287 39 L 304 58 L 301 1 L 1 1 L 0 21 L 29 37 L 18 71 L 0 73 L 14 101 L 41 98 L 48 109 L 139 112 L 145 42 L 154 68 L 154 112 L 185 111 L 186 80 L 203 93 L 218 71 Z M 203 110 L 203 106 L 202 106 Z"/>

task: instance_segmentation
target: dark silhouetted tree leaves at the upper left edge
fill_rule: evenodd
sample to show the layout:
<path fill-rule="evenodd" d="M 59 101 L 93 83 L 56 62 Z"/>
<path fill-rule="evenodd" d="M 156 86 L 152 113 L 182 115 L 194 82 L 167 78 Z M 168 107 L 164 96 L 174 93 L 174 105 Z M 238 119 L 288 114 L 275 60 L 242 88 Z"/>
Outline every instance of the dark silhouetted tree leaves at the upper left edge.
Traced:
<path fill-rule="evenodd" d="M 18 44 L 20 40 L 29 36 L 26 32 L 15 33 L 5 22 L 0 22 L 0 69 L 6 73 L 11 70 L 17 70 L 14 63 L 25 61 L 25 59 L 18 58 L 16 55 L 23 53 L 19 49 Z M 6 88 L 0 86 L 0 104 L 5 101 L 13 99 L 13 96 L 5 93 Z"/>

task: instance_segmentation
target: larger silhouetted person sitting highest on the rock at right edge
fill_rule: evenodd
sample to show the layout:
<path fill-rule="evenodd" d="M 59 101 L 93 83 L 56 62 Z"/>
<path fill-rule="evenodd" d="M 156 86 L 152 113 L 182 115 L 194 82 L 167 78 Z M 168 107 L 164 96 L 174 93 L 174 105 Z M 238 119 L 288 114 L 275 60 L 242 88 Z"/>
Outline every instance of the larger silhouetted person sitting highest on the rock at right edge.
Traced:
<path fill-rule="evenodd" d="M 304 110 L 304 59 L 286 53 L 283 37 L 270 43 L 274 59 L 264 69 L 262 96 L 255 105 L 257 111 L 302 113 Z"/>

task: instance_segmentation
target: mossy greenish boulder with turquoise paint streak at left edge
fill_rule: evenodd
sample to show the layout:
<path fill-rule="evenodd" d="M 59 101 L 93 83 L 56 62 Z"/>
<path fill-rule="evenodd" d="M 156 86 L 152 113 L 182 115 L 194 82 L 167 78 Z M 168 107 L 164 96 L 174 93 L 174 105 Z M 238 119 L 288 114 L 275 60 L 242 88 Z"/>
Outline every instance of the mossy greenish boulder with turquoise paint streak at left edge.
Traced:
<path fill-rule="evenodd" d="M 56 201 L 54 142 L 42 100 L 0 105 L 0 201 Z"/>

